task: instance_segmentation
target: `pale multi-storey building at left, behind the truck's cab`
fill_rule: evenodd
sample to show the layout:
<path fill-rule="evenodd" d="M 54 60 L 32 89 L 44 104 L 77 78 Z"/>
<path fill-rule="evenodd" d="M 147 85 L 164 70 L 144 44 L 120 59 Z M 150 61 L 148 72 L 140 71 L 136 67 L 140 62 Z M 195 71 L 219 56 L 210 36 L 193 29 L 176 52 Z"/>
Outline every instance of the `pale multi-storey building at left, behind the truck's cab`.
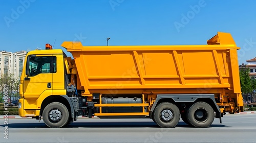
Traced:
<path fill-rule="evenodd" d="M 16 78 L 20 77 L 26 54 L 26 51 L 15 53 L 0 51 L 0 76 L 8 73 Z"/>

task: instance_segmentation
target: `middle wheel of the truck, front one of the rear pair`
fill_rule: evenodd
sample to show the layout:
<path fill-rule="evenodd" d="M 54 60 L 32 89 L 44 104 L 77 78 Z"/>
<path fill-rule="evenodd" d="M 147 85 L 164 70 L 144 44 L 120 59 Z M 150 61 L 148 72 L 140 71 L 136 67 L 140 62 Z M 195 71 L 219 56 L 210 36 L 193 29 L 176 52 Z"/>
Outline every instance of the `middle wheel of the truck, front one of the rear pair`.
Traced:
<path fill-rule="evenodd" d="M 155 123 L 163 128 L 175 127 L 180 121 L 180 110 L 172 103 L 160 103 L 153 113 Z"/>

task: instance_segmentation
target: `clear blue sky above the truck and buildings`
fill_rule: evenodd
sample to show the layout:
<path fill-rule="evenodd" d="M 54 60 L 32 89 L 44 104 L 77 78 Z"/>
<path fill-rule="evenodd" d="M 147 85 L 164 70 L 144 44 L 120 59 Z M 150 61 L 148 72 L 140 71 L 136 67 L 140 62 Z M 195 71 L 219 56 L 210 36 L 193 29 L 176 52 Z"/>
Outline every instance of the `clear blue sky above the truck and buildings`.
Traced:
<path fill-rule="evenodd" d="M 256 57 L 255 6 L 255 0 L 2 0 L 0 50 L 44 49 L 55 39 L 54 49 L 73 40 L 106 45 L 107 37 L 110 45 L 206 44 L 221 31 L 241 47 L 241 64 Z"/>

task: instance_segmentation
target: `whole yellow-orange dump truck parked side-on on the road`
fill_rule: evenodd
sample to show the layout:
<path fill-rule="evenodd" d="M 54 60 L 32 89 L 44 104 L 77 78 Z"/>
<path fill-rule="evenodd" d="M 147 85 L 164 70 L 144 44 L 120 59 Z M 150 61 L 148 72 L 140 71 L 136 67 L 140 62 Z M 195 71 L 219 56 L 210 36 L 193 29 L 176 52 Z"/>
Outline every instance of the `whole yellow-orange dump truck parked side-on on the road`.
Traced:
<path fill-rule="evenodd" d="M 180 118 L 208 127 L 243 111 L 236 43 L 218 32 L 207 45 L 83 46 L 31 51 L 20 77 L 19 115 L 60 128 L 78 116 L 150 117 L 160 127 Z"/>

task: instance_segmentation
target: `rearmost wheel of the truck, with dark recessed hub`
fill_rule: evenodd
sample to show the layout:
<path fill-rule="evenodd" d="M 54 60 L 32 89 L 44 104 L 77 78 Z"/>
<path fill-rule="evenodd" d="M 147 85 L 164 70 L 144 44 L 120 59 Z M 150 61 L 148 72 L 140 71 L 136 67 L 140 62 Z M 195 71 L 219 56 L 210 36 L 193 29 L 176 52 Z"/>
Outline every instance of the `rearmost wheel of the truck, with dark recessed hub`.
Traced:
<path fill-rule="evenodd" d="M 214 122 L 214 110 L 205 102 L 197 102 L 189 107 L 187 121 L 194 127 L 209 127 Z"/>

